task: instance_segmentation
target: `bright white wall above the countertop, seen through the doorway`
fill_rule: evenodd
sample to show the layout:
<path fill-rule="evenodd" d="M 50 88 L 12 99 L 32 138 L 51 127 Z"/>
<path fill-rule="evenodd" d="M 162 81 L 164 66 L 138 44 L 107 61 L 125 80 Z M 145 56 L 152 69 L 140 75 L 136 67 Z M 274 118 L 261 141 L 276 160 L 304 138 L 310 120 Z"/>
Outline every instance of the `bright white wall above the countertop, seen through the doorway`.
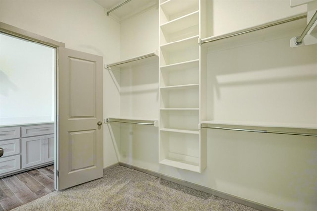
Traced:
<path fill-rule="evenodd" d="M 0 34 L 0 126 L 55 120 L 55 49 Z"/>

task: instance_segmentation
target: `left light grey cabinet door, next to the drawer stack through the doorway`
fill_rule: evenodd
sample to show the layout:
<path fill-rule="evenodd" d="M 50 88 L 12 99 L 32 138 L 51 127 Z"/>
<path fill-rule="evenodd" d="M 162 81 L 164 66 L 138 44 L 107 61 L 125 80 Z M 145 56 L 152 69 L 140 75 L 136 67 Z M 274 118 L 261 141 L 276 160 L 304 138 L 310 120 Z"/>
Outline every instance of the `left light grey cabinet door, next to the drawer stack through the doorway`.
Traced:
<path fill-rule="evenodd" d="M 22 138 L 22 168 L 44 162 L 43 141 L 44 136 Z"/>

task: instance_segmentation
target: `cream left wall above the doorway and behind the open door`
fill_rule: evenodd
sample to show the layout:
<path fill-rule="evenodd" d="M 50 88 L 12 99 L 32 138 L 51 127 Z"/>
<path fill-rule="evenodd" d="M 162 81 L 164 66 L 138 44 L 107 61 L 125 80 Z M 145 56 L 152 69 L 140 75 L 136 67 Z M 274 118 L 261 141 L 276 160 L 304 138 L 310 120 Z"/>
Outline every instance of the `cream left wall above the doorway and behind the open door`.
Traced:
<path fill-rule="evenodd" d="M 104 57 L 120 57 L 120 25 L 92 0 L 1 0 L 0 21 L 65 43 L 66 48 Z M 120 112 L 120 96 L 104 70 L 104 117 Z M 117 162 L 108 130 L 104 129 L 104 166 Z"/>

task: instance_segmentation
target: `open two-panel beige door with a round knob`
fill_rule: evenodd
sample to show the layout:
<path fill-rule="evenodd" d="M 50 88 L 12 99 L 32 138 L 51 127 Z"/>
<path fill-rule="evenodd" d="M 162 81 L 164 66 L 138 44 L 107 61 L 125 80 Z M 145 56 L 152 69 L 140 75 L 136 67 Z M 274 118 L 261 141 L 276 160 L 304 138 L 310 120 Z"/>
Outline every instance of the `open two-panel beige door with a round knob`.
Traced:
<path fill-rule="evenodd" d="M 103 177 L 103 57 L 58 48 L 58 190 Z"/>

